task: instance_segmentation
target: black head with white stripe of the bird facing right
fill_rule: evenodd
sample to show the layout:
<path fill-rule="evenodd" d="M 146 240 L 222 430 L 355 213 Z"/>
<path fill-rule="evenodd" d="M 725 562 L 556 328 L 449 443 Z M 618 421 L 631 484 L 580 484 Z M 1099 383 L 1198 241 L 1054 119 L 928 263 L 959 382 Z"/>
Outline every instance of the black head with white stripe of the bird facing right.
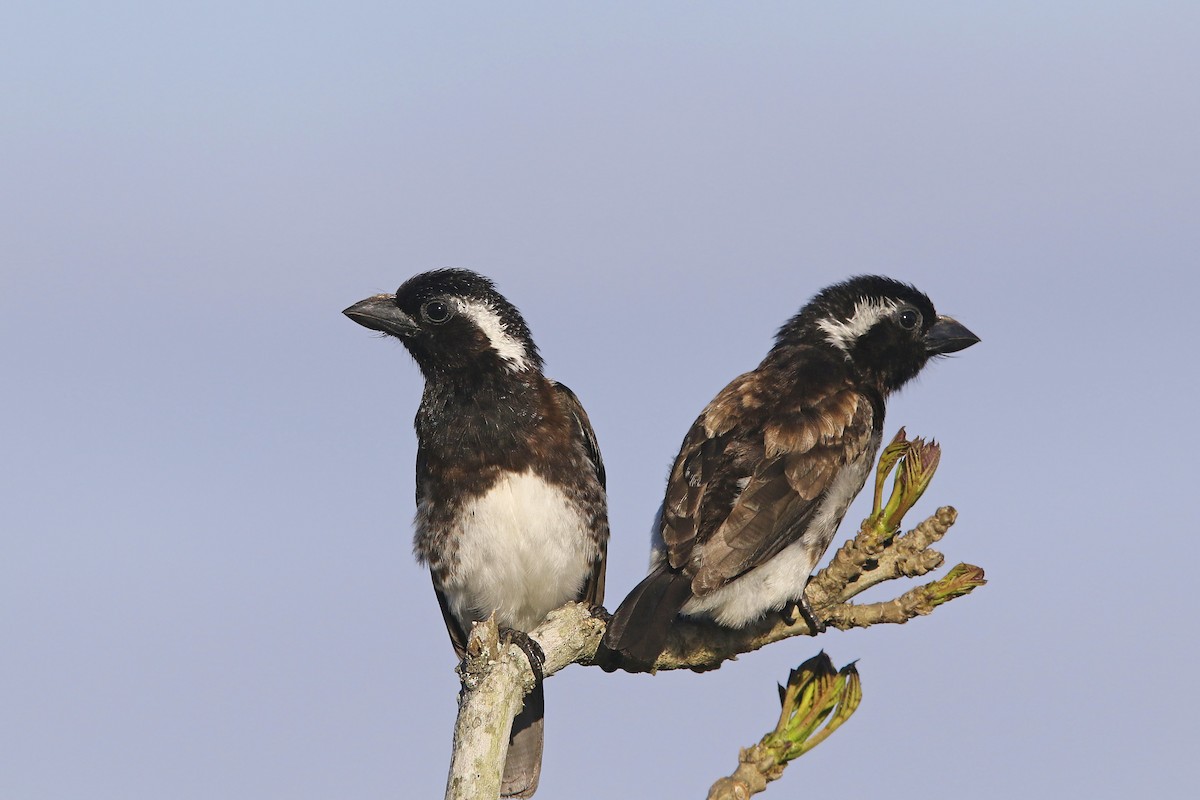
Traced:
<path fill-rule="evenodd" d="M 916 287 L 863 275 L 820 291 L 780 329 L 775 348 L 835 348 L 865 378 L 892 392 L 916 378 L 931 357 L 978 341 L 954 319 L 940 317 Z"/>

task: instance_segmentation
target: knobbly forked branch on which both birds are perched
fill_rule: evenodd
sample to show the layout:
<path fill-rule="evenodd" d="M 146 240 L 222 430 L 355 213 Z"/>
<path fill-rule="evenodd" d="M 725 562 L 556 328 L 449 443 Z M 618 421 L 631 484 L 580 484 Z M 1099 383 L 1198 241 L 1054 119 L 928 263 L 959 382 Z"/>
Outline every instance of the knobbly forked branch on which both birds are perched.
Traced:
<path fill-rule="evenodd" d="M 804 590 L 810 607 L 827 625 L 846 630 L 906 622 L 986 583 L 982 569 L 959 564 L 942 578 L 894 600 L 866 604 L 850 602 L 874 585 L 901 577 L 922 577 L 942 565 L 944 558 L 930 547 L 954 524 L 958 512 L 953 507 L 943 506 L 908 533 L 900 534 L 905 513 L 929 486 L 940 457 L 936 444 L 922 439 L 908 441 L 902 428 L 883 449 L 871 515 Z M 893 491 L 884 503 L 883 485 L 893 470 Z M 605 624 L 580 603 L 568 603 L 551 612 L 529 632 L 546 656 L 542 674 L 548 678 L 570 663 L 590 664 Z M 680 618 L 672 626 L 667 648 L 655 669 L 716 669 L 743 652 L 793 636 L 816 633 L 796 614 L 791 619 L 768 618 L 740 630 Z M 494 622 L 482 622 L 472 631 L 461 675 L 463 692 L 446 798 L 494 800 L 512 717 L 533 686 L 533 670 L 518 646 L 500 645 Z"/>

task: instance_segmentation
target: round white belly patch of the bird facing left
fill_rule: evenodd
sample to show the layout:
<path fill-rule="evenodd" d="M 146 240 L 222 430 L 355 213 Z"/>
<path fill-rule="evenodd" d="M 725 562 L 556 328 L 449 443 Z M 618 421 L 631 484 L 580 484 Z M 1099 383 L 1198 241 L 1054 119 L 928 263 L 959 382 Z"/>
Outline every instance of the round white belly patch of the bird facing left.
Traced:
<path fill-rule="evenodd" d="M 532 473 L 502 479 L 469 503 L 451 535 L 458 558 L 443 589 L 468 630 L 493 610 L 500 626 L 533 630 L 578 596 L 595 558 L 583 516 Z"/>

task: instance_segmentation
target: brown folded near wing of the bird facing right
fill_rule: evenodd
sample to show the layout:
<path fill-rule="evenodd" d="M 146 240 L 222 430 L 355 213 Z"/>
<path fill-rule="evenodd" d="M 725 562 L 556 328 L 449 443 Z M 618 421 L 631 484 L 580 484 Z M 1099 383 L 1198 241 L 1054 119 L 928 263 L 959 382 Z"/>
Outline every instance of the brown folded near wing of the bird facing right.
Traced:
<path fill-rule="evenodd" d="M 766 563 L 803 535 L 846 463 L 869 446 L 874 405 L 847 384 L 762 428 L 762 461 L 704 545 L 692 591 L 703 595 Z"/>

